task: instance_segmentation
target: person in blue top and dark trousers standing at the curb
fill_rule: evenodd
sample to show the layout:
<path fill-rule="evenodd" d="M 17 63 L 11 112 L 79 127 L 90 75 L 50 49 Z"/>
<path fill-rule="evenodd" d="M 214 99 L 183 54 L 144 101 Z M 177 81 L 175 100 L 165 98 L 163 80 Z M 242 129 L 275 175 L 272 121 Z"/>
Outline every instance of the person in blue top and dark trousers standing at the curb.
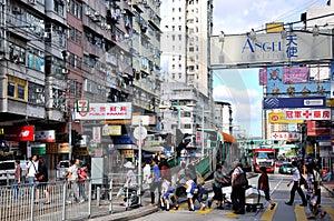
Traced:
<path fill-rule="evenodd" d="M 151 162 L 151 185 L 150 185 L 150 204 L 155 205 L 155 199 L 156 199 L 156 194 L 155 191 L 158 189 L 158 205 L 160 204 L 160 194 L 161 194 L 161 178 L 160 178 L 160 170 L 159 170 L 159 165 L 158 165 L 158 160 L 154 159 Z"/>

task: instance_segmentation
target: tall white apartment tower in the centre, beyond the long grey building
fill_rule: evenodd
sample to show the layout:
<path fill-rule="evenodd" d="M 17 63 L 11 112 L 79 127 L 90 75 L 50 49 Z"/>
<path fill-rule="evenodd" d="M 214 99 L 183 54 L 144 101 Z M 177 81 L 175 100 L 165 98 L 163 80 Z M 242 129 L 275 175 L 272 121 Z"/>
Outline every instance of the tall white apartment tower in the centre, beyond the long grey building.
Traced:
<path fill-rule="evenodd" d="M 213 73 L 209 69 L 209 36 L 213 1 L 165 0 L 161 11 L 161 68 L 166 81 L 161 104 L 177 107 L 180 123 L 163 122 L 168 130 L 195 134 L 197 128 L 213 127 Z M 170 111 L 163 111 L 171 118 Z"/>

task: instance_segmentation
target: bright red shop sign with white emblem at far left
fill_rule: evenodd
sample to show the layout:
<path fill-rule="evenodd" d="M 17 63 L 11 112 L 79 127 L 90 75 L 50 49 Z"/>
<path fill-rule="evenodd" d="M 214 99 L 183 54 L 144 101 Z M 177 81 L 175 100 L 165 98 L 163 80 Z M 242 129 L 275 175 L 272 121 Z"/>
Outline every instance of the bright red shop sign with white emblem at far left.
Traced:
<path fill-rule="evenodd" d="M 4 139 L 9 141 L 35 141 L 35 127 L 22 125 L 6 128 Z"/>

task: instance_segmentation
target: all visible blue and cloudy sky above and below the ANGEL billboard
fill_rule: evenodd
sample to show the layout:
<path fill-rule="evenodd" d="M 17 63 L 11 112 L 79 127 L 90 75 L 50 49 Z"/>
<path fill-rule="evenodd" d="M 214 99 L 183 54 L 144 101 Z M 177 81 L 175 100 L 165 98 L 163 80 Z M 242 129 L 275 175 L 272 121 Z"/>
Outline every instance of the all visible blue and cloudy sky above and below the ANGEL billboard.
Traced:
<path fill-rule="evenodd" d="M 310 7 L 326 6 L 327 0 L 214 0 L 214 34 L 243 34 L 264 29 L 271 22 L 299 21 Z M 299 24 L 302 27 L 302 23 Z M 233 122 L 246 134 L 262 135 L 263 88 L 258 70 L 222 70 L 214 73 L 214 99 L 232 103 Z M 224 115 L 228 115 L 227 109 Z M 224 123 L 228 123 L 224 119 Z"/>

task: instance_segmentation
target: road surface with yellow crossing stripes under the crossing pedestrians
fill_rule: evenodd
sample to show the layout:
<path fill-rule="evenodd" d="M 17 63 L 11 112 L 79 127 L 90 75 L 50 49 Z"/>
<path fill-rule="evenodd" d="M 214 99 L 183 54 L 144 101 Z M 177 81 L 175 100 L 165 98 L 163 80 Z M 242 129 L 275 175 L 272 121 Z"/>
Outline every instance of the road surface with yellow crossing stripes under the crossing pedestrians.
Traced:
<path fill-rule="evenodd" d="M 136 220 L 141 221 L 170 221 L 170 220 L 191 220 L 191 221 L 202 221 L 202 220 L 265 220 L 265 221 L 299 221 L 299 220 L 307 220 L 310 215 L 310 209 L 306 207 L 299 207 L 301 199 L 299 195 L 296 193 L 295 202 L 292 207 L 286 205 L 286 202 L 289 198 L 289 188 L 287 188 L 287 183 L 291 180 L 291 175 L 285 174 L 268 174 L 269 175 L 269 184 L 271 184 L 271 192 L 272 192 L 272 200 L 276 203 L 276 208 L 274 210 L 268 209 L 268 203 L 265 201 L 264 209 L 257 209 L 256 212 L 246 212 L 246 214 L 234 214 L 229 207 L 225 205 L 224 210 L 215 209 L 215 203 L 213 204 L 212 209 L 206 209 L 205 211 L 197 210 L 195 212 L 188 211 L 187 203 L 184 203 L 179 210 L 170 210 L 170 211 L 159 211 L 153 213 L 147 217 L 143 217 Z M 252 185 L 257 184 L 258 177 L 254 177 L 249 179 Z M 212 193 L 209 194 L 209 198 Z M 334 199 L 328 194 L 325 189 L 322 189 L 322 207 L 325 208 L 327 214 L 324 219 L 325 221 L 334 220 Z M 317 218 L 318 220 L 320 217 Z"/>

